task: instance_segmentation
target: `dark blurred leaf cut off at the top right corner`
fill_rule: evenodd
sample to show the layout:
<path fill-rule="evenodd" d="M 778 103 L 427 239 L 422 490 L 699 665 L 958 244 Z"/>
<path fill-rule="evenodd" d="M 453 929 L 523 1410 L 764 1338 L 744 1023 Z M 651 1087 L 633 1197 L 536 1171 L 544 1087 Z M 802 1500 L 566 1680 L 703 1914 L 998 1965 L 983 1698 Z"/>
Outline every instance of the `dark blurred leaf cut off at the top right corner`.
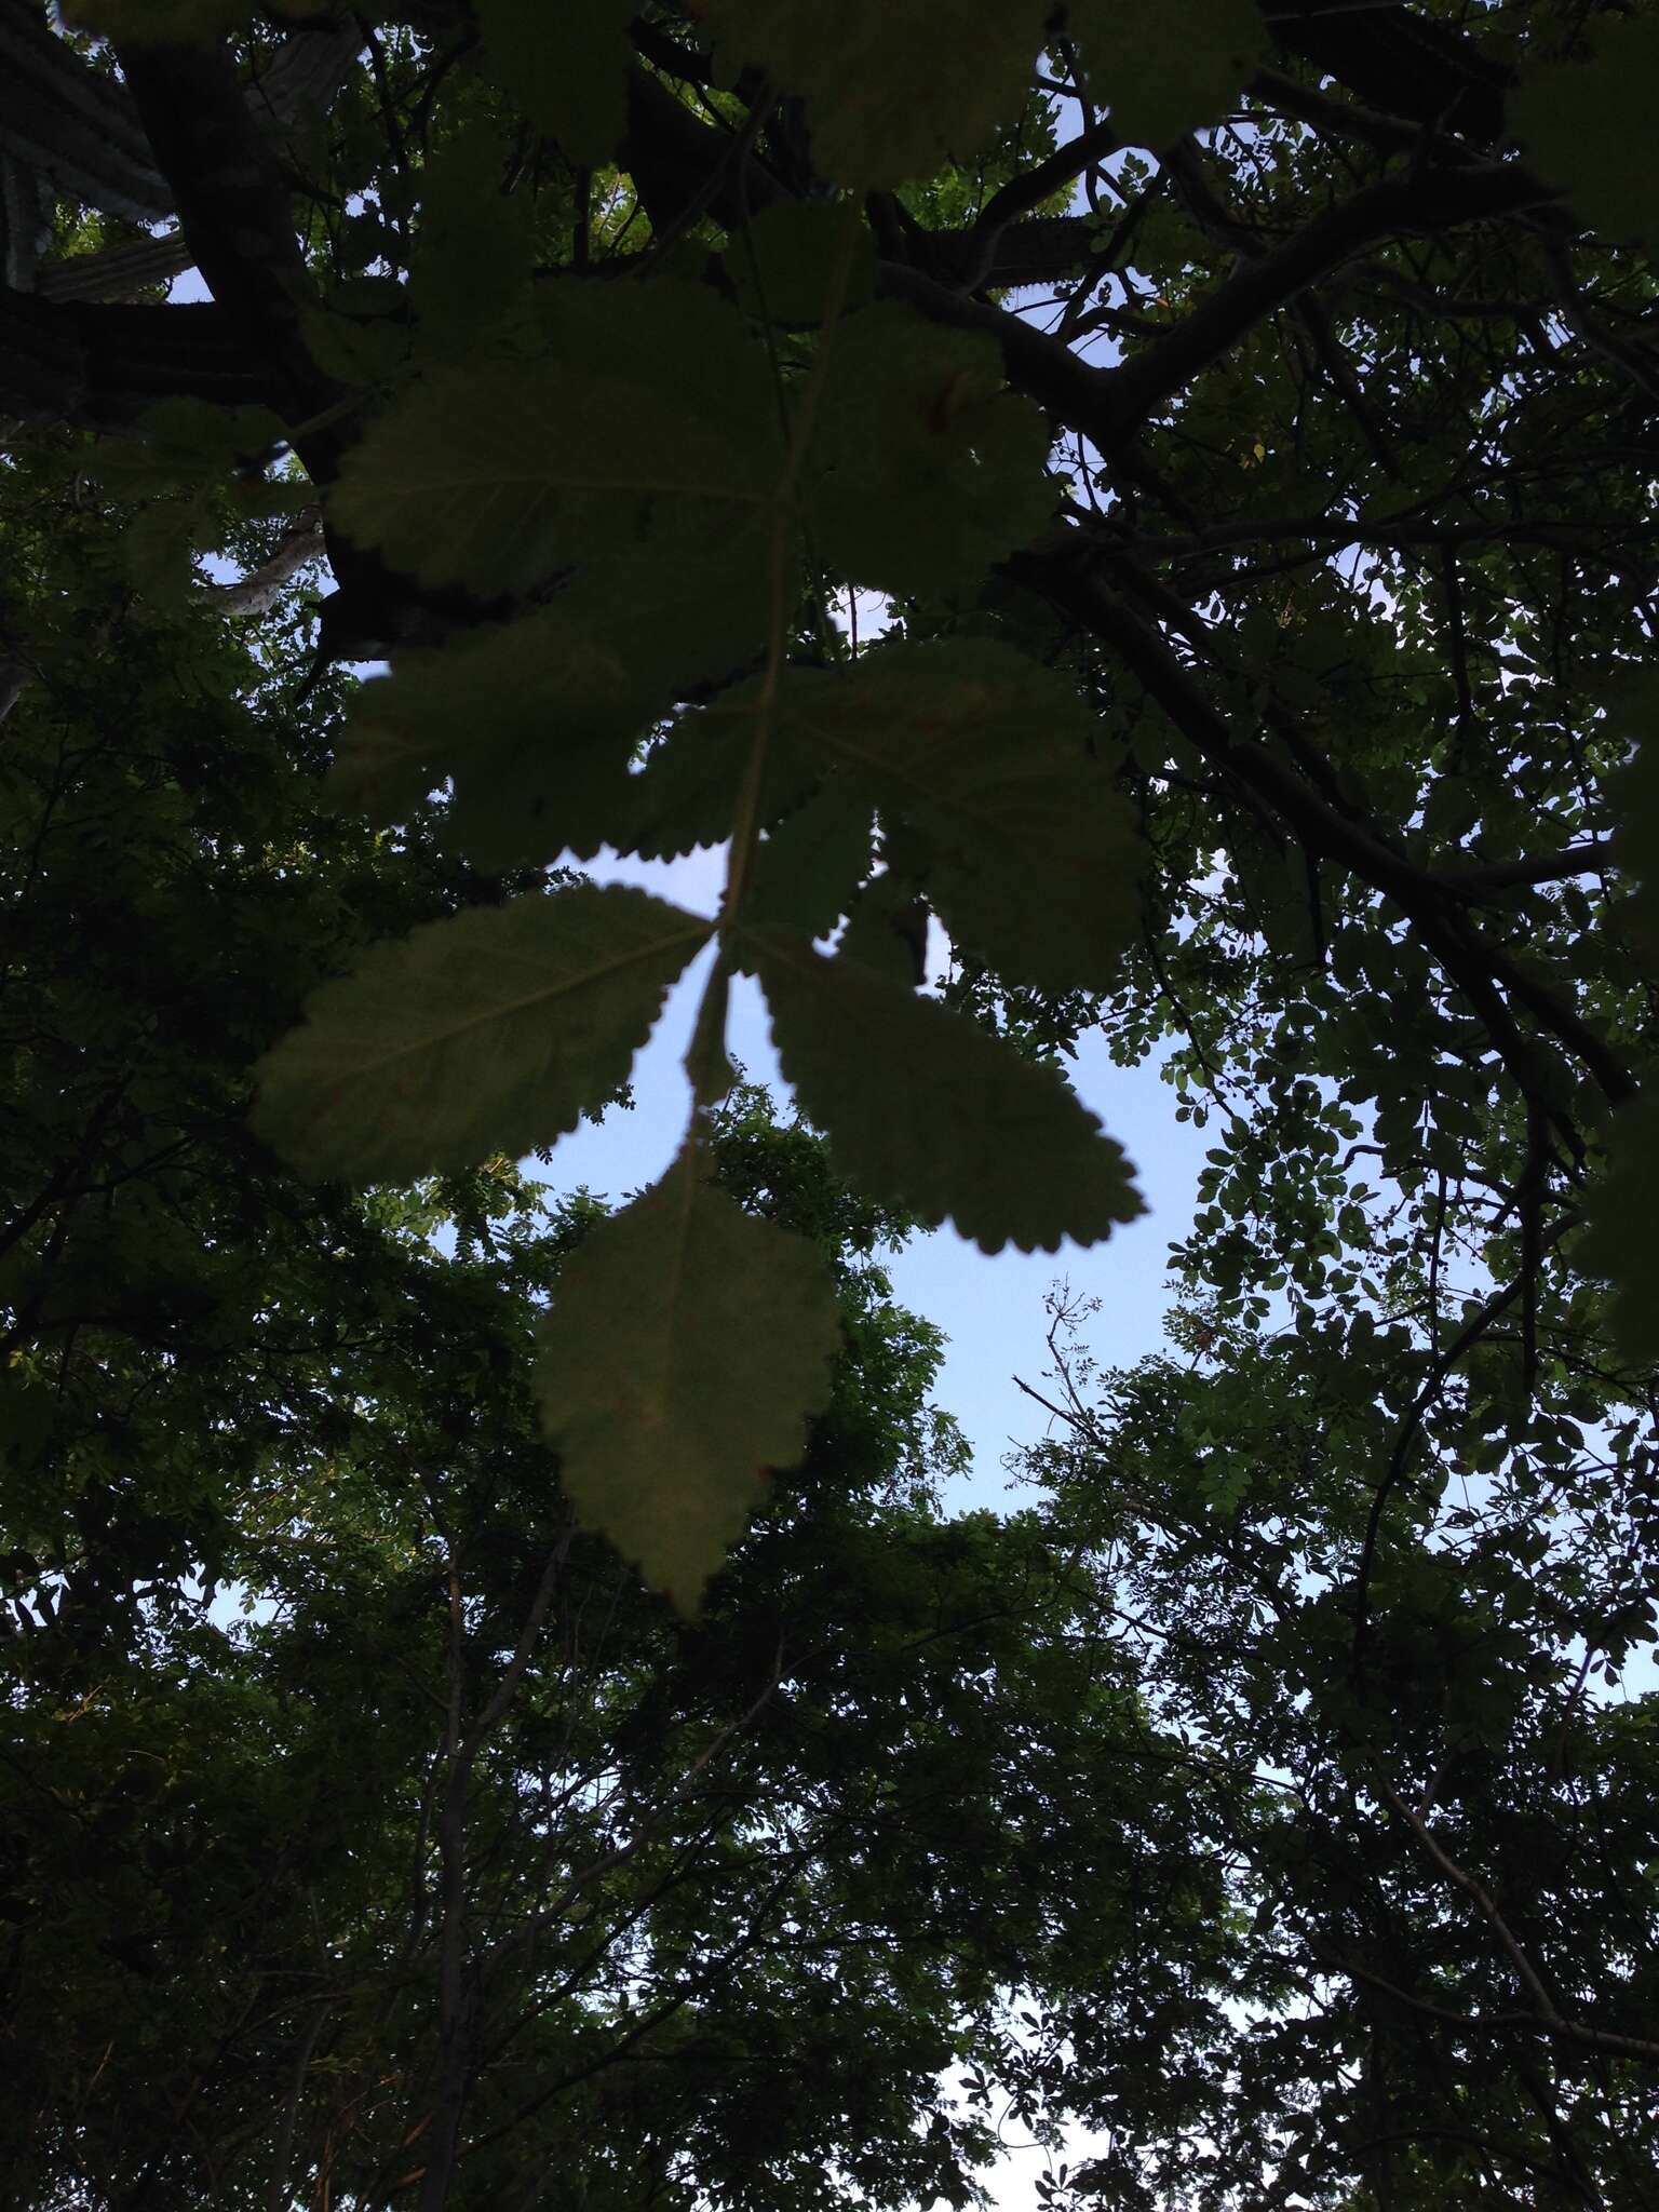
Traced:
<path fill-rule="evenodd" d="M 1597 18 L 1588 62 L 1537 69 L 1509 102 L 1526 159 L 1610 237 L 1659 234 L 1659 18 Z"/>

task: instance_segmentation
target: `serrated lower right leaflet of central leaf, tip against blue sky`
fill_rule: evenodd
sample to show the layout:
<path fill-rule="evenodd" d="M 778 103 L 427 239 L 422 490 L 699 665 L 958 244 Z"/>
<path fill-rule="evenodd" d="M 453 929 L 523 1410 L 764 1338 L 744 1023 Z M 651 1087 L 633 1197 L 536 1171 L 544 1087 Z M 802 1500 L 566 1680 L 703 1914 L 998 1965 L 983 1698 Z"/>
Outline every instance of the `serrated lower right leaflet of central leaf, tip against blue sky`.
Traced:
<path fill-rule="evenodd" d="M 801 1106 L 872 1197 L 949 1219 L 987 1252 L 1099 1243 L 1144 1212 L 1119 1146 L 1055 1068 L 805 938 L 745 929 L 739 958 Z"/>

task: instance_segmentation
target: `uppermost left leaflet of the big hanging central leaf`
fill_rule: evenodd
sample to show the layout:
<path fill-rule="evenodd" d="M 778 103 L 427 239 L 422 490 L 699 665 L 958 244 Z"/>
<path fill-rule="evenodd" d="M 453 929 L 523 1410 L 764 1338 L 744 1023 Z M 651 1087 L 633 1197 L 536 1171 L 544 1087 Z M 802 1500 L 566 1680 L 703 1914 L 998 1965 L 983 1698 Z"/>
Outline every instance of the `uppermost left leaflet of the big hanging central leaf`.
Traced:
<path fill-rule="evenodd" d="M 557 288 L 533 363 L 440 374 L 354 449 L 334 522 L 482 599 L 562 568 L 675 575 L 754 524 L 781 471 L 765 356 L 699 285 Z"/>

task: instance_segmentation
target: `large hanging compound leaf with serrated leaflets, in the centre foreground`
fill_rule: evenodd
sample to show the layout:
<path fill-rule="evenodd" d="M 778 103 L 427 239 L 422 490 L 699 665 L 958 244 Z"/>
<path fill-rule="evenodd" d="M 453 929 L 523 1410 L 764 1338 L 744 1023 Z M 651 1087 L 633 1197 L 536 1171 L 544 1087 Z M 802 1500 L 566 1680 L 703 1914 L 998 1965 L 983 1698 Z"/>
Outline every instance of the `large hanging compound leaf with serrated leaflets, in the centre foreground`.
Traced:
<path fill-rule="evenodd" d="M 495 358 L 434 374 L 367 431 L 334 524 L 420 586 L 509 619 L 369 684 L 334 794 L 396 818 L 447 779 L 449 832 L 480 865 L 728 845 L 721 962 L 757 967 L 785 1073 L 849 1179 L 987 1250 L 1093 1241 L 1139 1199 L 1064 1079 L 918 1002 L 914 980 L 823 962 L 787 936 L 832 931 L 887 847 L 1011 978 L 1102 987 L 1135 927 L 1133 832 L 1064 677 L 984 641 L 894 644 L 854 666 L 801 653 L 801 617 L 816 608 L 825 626 L 807 549 L 849 584 L 949 591 L 1053 507 L 1044 420 L 1004 389 L 995 347 L 860 303 L 858 208 L 812 217 L 761 226 L 734 301 L 675 276 L 555 285 Z M 774 292 L 816 310 L 787 354 Z M 628 641 L 606 606 L 626 606 Z M 657 641 L 639 650 L 641 635 Z M 684 686 L 710 679 L 714 697 L 686 706 Z M 626 1082 L 706 936 L 619 891 L 418 933 L 319 993 L 261 1068 L 257 1126 L 307 1172 L 356 1181 L 546 1146 Z M 723 989 L 719 964 L 692 1048 L 699 1102 L 726 1064 Z M 661 1186 L 675 1203 L 637 1201 L 568 1314 L 560 1290 L 542 1387 L 577 1509 L 681 1604 L 752 1502 L 732 1467 L 787 1455 L 821 1356 L 812 1301 L 790 1290 L 805 1259 L 763 1239 L 741 1261 L 759 1303 L 710 1294 L 723 1217 L 706 1217 L 697 1175 L 690 1141 Z M 622 1283 L 657 1270 L 670 1225 L 681 1259 L 664 1281 L 684 1263 L 697 1292 L 641 1310 L 641 1347 L 617 1327 Z M 761 1310 L 774 1385 L 752 1396 Z M 695 1389 L 708 1440 L 677 1460 L 668 1438 Z M 617 1409 L 635 1400 L 626 1422 Z M 719 1447 L 717 1416 L 745 1400 L 765 1436 Z"/>

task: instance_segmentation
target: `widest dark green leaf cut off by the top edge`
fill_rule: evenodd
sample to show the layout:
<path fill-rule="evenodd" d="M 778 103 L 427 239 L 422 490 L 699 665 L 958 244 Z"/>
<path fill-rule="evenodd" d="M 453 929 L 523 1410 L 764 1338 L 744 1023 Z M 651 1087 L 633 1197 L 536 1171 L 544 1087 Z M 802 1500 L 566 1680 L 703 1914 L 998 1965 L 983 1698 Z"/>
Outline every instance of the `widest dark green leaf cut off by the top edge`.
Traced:
<path fill-rule="evenodd" d="M 1020 113 L 1046 0 L 710 0 L 723 49 L 805 100 L 816 166 L 863 190 L 978 153 Z"/>

